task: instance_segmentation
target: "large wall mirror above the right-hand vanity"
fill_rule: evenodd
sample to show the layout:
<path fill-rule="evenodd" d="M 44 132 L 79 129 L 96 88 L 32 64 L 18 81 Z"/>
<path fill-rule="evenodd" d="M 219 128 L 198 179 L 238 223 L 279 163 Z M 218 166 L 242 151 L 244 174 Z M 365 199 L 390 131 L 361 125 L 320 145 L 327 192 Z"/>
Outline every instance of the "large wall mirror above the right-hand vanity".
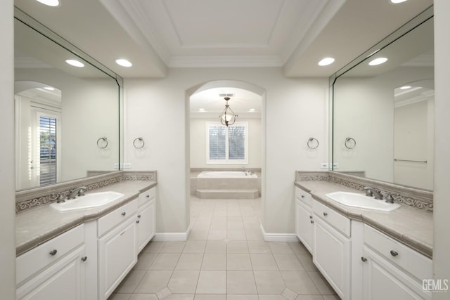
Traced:
<path fill-rule="evenodd" d="M 432 190 L 432 7 L 331 79 L 333 171 Z"/>

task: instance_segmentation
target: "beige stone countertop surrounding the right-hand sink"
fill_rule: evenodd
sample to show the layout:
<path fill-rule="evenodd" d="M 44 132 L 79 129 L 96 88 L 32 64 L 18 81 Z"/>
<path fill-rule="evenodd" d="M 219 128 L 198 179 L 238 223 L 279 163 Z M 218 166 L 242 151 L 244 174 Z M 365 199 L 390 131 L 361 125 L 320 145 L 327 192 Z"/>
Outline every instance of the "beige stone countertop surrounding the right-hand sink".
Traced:
<path fill-rule="evenodd" d="M 431 212 L 406 205 L 390 212 L 347 207 L 330 200 L 326 194 L 338 191 L 361 193 L 362 195 L 364 193 L 330 181 L 295 181 L 295 185 L 310 193 L 314 200 L 335 209 L 340 214 L 350 219 L 363 221 L 394 240 L 432 258 L 433 215 Z"/>

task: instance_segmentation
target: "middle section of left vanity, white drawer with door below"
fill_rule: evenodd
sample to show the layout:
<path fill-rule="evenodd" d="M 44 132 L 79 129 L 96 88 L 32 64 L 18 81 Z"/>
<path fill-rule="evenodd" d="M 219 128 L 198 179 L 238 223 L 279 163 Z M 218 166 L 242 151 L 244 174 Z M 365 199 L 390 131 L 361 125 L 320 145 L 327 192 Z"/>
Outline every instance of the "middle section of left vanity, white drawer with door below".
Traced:
<path fill-rule="evenodd" d="M 137 262 L 136 212 L 133 200 L 102 216 L 98 233 L 98 299 L 108 299 Z"/>

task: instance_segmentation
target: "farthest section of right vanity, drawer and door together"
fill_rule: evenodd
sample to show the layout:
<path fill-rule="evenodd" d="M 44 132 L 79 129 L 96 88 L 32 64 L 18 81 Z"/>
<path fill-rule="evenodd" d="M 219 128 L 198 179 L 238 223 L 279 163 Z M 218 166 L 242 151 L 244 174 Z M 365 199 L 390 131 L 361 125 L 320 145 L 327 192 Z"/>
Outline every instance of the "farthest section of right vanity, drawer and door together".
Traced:
<path fill-rule="evenodd" d="M 311 253 L 314 237 L 312 202 L 309 193 L 295 187 L 295 234 Z"/>

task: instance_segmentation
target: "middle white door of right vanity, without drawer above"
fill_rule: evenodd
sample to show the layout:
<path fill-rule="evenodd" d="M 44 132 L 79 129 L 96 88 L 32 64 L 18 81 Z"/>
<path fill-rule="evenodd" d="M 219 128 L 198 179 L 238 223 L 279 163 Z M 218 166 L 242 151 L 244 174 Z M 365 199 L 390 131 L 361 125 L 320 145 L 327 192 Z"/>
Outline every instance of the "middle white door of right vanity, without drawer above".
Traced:
<path fill-rule="evenodd" d="M 350 240 L 314 216 L 314 264 L 341 299 L 349 299 Z"/>

